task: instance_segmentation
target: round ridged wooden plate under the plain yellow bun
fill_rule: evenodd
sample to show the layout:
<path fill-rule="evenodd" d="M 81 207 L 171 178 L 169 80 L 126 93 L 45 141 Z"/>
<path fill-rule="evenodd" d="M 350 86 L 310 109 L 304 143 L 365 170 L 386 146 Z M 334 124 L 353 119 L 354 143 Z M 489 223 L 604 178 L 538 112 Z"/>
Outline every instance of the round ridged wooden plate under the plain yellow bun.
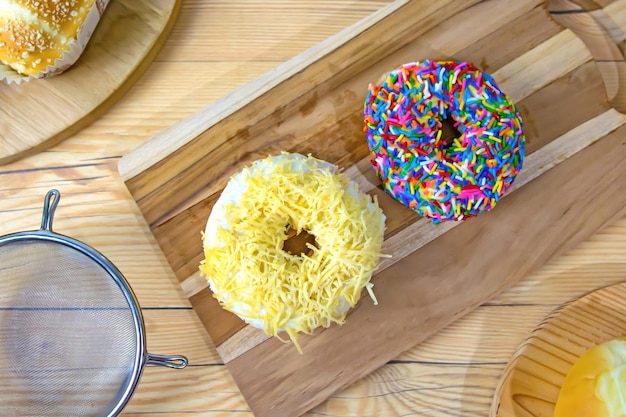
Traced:
<path fill-rule="evenodd" d="M 565 375 L 587 349 L 626 336 L 626 283 L 550 314 L 522 343 L 496 389 L 491 417 L 552 417 Z"/>

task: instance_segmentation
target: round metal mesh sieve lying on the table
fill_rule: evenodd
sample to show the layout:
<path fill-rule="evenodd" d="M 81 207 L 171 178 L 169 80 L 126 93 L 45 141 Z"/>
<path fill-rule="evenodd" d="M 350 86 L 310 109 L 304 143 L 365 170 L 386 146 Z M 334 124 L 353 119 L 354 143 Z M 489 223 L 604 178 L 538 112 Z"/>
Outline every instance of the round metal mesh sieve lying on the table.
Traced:
<path fill-rule="evenodd" d="M 120 271 L 54 233 L 61 195 L 41 228 L 0 237 L 0 416 L 116 416 L 145 365 L 184 368 L 146 351 L 141 310 Z"/>

